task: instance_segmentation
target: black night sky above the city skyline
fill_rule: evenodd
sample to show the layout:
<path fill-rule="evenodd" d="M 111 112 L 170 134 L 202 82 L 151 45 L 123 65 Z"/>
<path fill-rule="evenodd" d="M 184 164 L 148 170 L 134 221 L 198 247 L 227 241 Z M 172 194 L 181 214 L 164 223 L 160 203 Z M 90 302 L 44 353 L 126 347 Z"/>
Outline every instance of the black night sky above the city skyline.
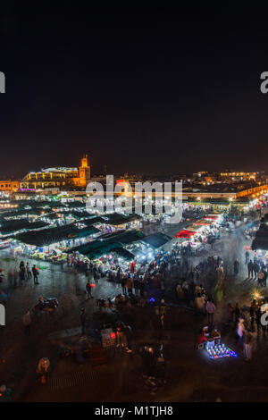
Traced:
<path fill-rule="evenodd" d="M 1 4 L 1 177 L 84 153 L 95 173 L 267 171 L 268 13 L 200 3 Z"/>

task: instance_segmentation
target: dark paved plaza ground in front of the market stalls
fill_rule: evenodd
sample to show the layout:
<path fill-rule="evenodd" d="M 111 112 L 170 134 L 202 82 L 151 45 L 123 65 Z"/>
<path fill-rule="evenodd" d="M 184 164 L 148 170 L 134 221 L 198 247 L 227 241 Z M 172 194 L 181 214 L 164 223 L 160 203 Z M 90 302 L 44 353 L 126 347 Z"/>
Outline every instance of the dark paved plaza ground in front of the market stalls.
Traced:
<path fill-rule="evenodd" d="M 176 229 L 176 228 L 173 228 Z M 215 323 L 222 331 L 222 341 L 237 351 L 239 357 L 211 361 L 205 350 L 195 349 L 197 334 L 205 325 L 205 315 L 198 314 L 184 305 L 172 307 L 170 320 L 163 332 L 166 359 L 166 383 L 148 388 L 142 377 L 139 345 L 154 340 L 151 313 L 148 308 L 126 308 L 122 314 L 109 309 L 102 312 L 96 307 L 96 298 L 114 297 L 121 292 L 121 285 L 114 285 L 102 278 L 94 288 L 94 298 L 86 301 L 84 273 L 46 262 L 37 262 L 40 268 L 39 285 L 32 280 L 14 287 L 7 280 L 1 290 L 8 294 L 6 326 L 0 332 L 1 382 L 13 387 L 16 401 L 250 401 L 268 400 L 266 376 L 268 374 L 267 338 L 257 340 L 253 359 L 246 362 L 242 347 L 236 339 L 235 326 L 226 325 L 226 306 L 229 300 L 248 306 L 256 281 L 247 280 L 245 265 L 245 239 L 238 228 L 222 235 L 214 250 L 205 255 L 222 256 L 227 281 L 227 296 L 217 305 Z M 253 253 L 251 252 L 253 256 Z M 232 275 L 234 259 L 240 262 L 240 272 Z M 200 257 L 192 261 L 195 265 Z M 6 271 L 19 265 L 8 252 L 0 256 Z M 31 264 L 35 264 L 32 260 Z M 176 303 L 175 287 L 180 279 L 166 279 L 167 296 Z M 205 281 L 206 290 L 214 289 L 214 279 Z M 263 290 L 265 294 L 266 290 Z M 268 291 L 268 290 L 267 290 Z M 38 298 L 56 297 L 60 301 L 56 315 L 34 319 L 29 337 L 25 337 L 22 315 L 32 308 Z M 64 311 L 63 311 L 64 306 Z M 116 317 L 125 319 L 133 328 L 135 342 L 131 354 L 110 350 L 107 363 L 92 366 L 89 361 L 77 363 L 61 358 L 61 349 L 78 346 L 80 334 L 80 307 L 86 307 L 88 333 L 101 322 Z M 40 357 L 51 361 L 51 379 L 45 385 L 38 382 L 36 369 Z M 267 366 L 267 367 L 266 367 Z"/>

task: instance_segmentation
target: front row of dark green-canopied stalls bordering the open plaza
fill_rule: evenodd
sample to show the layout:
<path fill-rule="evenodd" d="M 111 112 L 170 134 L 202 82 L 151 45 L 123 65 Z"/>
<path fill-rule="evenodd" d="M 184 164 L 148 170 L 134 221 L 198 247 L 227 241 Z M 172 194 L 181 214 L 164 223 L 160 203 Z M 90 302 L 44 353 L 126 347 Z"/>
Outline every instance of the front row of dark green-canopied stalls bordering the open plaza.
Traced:
<path fill-rule="evenodd" d="M 93 222 L 93 220 L 92 220 Z M 75 259 L 76 265 L 89 261 L 105 265 L 105 270 L 118 262 L 126 268 L 130 261 L 144 265 L 155 258 L 155 252 L 172 238 L 163 233 L 145 236 L 141 231 L 113 231 L 102 234 L 94 225 L 71 225 L 30 231 L 16 236 L 11 246 L 14 255 L 54 263 Z"/>

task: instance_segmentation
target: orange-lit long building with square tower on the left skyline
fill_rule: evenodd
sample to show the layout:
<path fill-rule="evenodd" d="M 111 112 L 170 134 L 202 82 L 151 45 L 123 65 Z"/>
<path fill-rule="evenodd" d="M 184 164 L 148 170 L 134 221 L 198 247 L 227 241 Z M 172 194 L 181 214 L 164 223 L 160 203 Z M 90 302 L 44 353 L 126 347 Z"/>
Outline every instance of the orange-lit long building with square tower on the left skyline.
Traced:
<path fill-rule="evenodd" d="M 86 188 L 90 179 L 88 155 L 81 159 L 79 168 L 56 167 L 29 172 L 21 180 L 20 189 Z"/>

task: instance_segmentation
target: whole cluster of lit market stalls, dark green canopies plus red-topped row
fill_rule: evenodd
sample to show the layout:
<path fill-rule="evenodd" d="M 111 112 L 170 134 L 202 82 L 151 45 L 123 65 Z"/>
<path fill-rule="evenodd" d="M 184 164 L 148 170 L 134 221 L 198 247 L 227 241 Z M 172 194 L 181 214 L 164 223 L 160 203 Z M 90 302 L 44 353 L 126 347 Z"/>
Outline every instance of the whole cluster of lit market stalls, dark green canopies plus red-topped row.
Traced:
<path fill-rule="evenodd" d="M 17 203 L 18 204 L 18 203 Z M 148 221 L 163 217 L 146 215 Z M 163 248 L 171 237 L 161 232 L 144 236 L 139 230 L 145 215 L 88 214 L 82 201 L 20 202 L 14 210 L 0 209 L 2 245 L 10 243 L 14 254 L 62 263 L 74 255 L 80 263 L 94 261 L 97 265 L 114 265 L 120 260 L 128 265 L 135 259 L 139 265 L 155 258 L 155 250 Z M 180 245 L 198 248 L 209 236 L 216 236 L 221 214 L 207 214 L 176 235 Z M 138 236 L 137 236 L 138 235 Z M 1 246 L 1 245 L 0 245 Z"/>

